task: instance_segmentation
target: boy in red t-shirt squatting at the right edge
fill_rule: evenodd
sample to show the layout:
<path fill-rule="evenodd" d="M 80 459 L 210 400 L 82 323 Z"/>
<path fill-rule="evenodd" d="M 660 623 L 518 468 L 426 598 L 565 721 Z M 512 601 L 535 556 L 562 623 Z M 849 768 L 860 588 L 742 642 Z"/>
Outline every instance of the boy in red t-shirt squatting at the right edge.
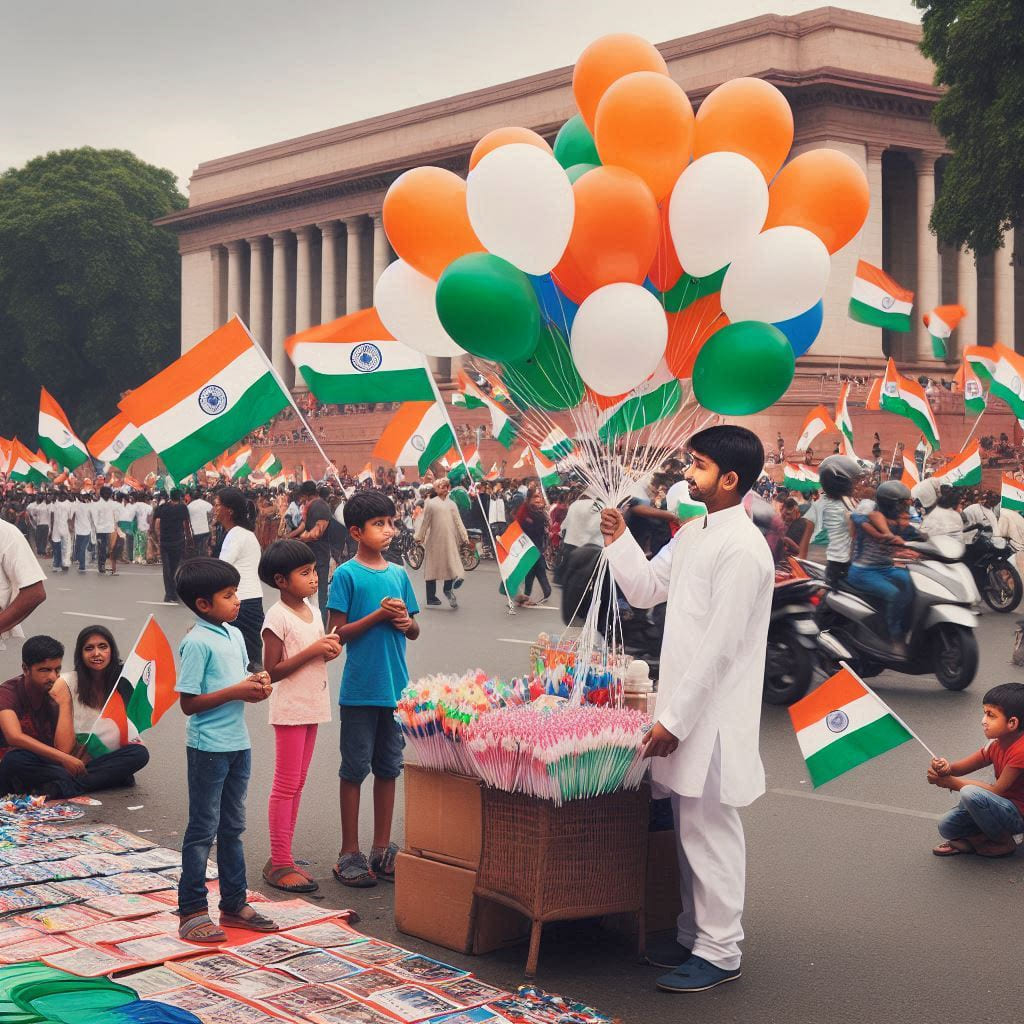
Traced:
<path fill-rule="evenodd" d="M 936 758 L 928 769 L 932 785 L 961 795 L 959 806 L 939 822 L 945 842 L 932 850 L 937 857 L 1009 857 L 1017 848 L 1014 837 L 1024 833 L 1024 683 L 993 686 L 982 707 L 981 728 L 988 742 L 953 764 Z M 958 777 L 985 765 L 995 769 L 991 784 Z"/>

